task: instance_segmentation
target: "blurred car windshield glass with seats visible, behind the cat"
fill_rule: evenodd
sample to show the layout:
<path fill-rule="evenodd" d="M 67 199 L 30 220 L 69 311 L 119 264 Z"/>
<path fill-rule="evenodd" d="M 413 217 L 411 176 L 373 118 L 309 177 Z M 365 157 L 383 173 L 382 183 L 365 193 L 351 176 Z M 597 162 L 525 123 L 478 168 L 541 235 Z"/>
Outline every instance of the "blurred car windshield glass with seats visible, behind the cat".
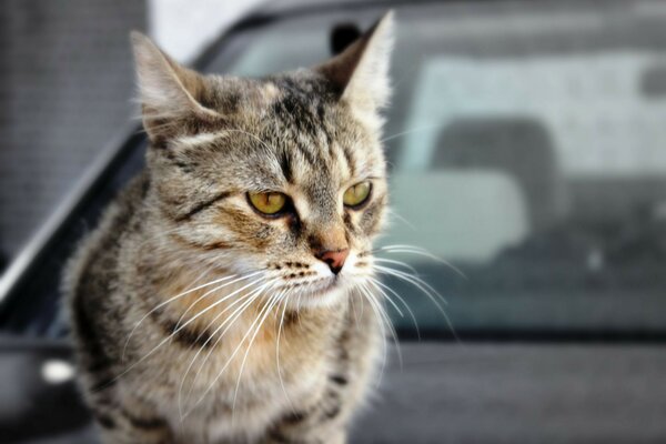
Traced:
<path fill-rule="evenodd" d="M 414 268 L 448 320 L 423 285 L 387 285 L 442 335 L 664 330 L 666 6 L 468 12 L 398 10 L 384 139 L 392 218 L 379 255 Z M 271 26 L 225 71 L 316 63 L 335 22 Z M 396 325 L 415 331 L 392 297 Z"/>

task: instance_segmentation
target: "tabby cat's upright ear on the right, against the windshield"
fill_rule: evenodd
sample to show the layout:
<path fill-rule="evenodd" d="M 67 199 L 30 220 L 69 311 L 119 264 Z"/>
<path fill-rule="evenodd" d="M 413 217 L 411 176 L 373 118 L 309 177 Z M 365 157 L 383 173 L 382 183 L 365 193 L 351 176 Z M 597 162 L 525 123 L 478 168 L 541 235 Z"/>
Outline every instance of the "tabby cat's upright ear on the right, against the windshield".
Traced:
<path fill-rule="evenodd" d="M 341 54 L 315 67 L 362 112 L 376 113 L 391 97 L 389 67 L 393 49 L 393 11 L 382 17 Z"/>

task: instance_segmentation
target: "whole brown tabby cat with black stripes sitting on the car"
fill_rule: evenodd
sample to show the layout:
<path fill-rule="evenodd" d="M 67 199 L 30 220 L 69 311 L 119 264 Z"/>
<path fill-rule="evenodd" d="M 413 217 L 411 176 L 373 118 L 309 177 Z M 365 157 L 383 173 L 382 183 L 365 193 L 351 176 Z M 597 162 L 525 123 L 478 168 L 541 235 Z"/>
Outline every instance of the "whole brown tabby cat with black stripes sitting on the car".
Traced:
<path fill-rule="evenodd" d="M 132 34 L 147 167 L 63 280 L 102 442 L 346 441 L 385 346 L 370 280 L 392 29 L 389 12 L 262 79 L 196 73 Z"/>

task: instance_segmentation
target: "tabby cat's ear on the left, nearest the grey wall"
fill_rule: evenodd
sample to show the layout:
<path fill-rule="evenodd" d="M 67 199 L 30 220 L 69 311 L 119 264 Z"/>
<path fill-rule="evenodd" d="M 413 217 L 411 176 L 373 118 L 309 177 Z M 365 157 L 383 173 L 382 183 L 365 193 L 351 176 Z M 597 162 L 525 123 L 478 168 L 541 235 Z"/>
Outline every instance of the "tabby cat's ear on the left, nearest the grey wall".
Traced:
<path fill-rule="evenodd" d="M 162 52 L 148 37 L 131 33 L 143 128 L 152 142 L 164 140 L 190 119 L 213 121 L 220 114 L 200 100 L 203 78 Z"/>

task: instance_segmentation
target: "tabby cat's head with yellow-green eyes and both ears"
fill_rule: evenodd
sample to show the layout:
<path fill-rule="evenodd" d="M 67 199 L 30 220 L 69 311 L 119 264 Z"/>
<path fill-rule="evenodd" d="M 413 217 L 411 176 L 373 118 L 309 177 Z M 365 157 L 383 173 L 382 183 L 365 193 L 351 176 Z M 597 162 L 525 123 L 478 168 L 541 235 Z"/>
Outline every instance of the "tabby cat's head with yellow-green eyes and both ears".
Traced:
<path fill-rule="evenodd" d="M 340 56 L 264 79 L 201 75 L 133 43 L 154 234 L 183 266 L 255 273 L 306 305 L 362 285 L 387 203 L 392 13 Z"/>

